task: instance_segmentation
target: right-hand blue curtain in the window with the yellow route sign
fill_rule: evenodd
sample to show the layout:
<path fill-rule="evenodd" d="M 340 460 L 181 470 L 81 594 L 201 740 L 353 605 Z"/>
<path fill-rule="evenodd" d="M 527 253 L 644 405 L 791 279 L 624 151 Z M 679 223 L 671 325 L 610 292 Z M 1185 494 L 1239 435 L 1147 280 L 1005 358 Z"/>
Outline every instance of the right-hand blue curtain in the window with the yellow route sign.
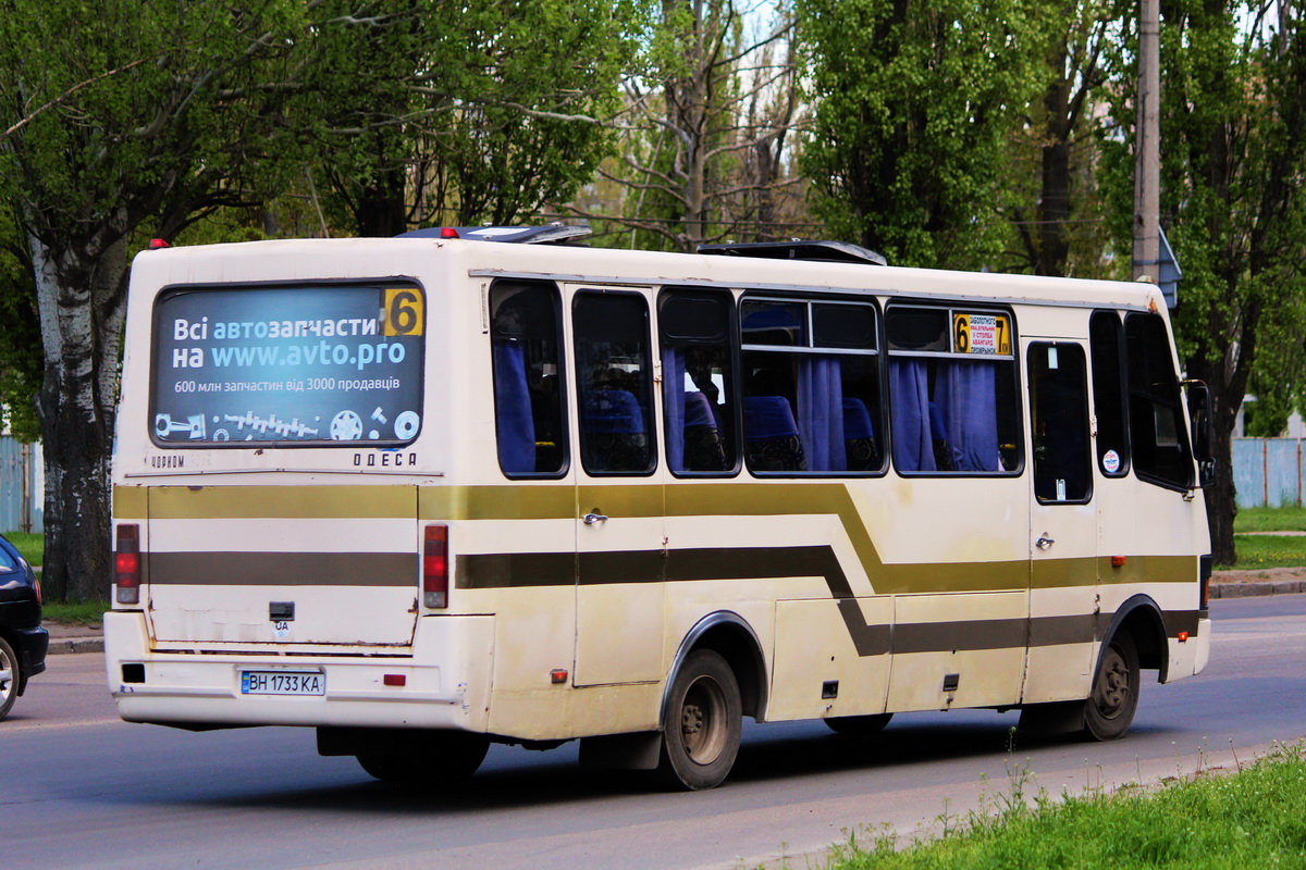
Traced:
<path fill-rule="evenodd" d="M 944 438 L 957 471 L 998 471 L 996 365 L 989 361 L 939 367 L 934 403 L 943 416 Z"/>

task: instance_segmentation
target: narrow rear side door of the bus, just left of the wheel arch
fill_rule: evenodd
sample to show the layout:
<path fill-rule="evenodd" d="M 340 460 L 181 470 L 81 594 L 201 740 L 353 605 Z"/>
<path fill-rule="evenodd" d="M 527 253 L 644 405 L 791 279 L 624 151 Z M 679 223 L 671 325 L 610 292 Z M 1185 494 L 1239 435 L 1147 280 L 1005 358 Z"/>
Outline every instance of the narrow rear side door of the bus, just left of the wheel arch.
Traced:
<path fill-rule="evenodd" d="M 663 487 L 649 304 L 572 297 L 577 441 L 577 686 L 656 682 L 663 659 Z"/>

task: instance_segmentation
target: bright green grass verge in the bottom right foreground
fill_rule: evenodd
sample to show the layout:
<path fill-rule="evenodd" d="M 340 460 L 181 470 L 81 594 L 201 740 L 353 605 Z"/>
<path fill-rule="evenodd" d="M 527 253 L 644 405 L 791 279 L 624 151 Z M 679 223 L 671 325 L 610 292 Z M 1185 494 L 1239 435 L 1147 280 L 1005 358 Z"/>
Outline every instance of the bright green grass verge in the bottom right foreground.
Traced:
<path fill-rule="evenodd" d="M 1235 775 L 1183 779 L 1158 790 L 1114 796 L 1046 794 L 1027 807 L 1002 796 L 995 814 L 944 826 L 942 839 L 895 849 L 889 835 L 836 849 L 829 870 L 1007 870 L 1074 867 L 1306 867 L 1306 759 L 1302 747 Z"/>

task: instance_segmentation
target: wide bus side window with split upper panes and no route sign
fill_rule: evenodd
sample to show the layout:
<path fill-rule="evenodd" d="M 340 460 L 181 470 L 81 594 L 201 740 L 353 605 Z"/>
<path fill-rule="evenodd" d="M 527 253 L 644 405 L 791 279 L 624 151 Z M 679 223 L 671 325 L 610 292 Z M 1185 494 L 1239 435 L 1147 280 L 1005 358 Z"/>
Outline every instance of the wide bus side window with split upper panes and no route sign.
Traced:
<path fill-rule="evenodd" d="M 744 457 L 754 473 L 884 468 L 878 312 L 841 300 L 744 299 Z"/>

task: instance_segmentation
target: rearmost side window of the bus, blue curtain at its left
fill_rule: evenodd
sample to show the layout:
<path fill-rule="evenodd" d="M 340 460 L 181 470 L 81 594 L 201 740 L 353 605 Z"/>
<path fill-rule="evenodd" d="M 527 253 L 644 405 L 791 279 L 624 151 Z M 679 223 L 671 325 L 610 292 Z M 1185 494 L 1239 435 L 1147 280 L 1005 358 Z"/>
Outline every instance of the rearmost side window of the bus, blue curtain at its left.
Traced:
<path fill-rule="evenodd" d="M 495 440 L 509 477 L 558 476 L 567 468 L 558 288 L 495 282 L 490 288 Z"/>

